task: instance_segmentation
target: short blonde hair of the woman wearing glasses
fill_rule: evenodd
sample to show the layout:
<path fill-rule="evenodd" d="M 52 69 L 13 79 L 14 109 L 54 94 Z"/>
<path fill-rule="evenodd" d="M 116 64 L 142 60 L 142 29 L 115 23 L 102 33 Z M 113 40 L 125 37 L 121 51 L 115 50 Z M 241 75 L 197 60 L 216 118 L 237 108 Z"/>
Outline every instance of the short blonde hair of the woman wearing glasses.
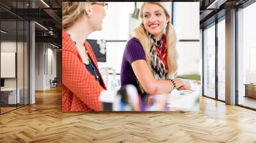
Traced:
<path fill-rule="evenodd" d="M 81 17 L 85 8 L 92 2 L 63 2 L 62 3 L 62 29 L 67 29 Z"/>

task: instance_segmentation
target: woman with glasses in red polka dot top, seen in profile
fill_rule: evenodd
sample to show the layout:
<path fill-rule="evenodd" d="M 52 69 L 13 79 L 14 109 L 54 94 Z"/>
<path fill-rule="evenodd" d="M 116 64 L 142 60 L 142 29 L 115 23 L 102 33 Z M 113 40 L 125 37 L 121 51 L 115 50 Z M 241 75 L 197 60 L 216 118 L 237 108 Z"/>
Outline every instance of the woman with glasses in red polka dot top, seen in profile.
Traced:
<path fill-rule="evenodd" d="M 62 110 L 102 110 L 100 92 L 106 85 L 86 38 L 102 29 L 102 2 L 62 3 Z"/>

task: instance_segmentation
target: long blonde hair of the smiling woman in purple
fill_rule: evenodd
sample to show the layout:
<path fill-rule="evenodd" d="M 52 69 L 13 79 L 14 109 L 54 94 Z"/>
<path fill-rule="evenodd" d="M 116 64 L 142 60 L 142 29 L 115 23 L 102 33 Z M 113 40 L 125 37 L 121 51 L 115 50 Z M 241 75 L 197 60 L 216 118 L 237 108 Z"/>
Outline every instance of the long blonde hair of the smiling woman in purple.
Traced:
<path fill-rule="evenodd" d="M 161 3 L 161 2 L 143 3 L 140 11 L 141 19 L 143 18 L 143 8 L 145 7 L 146 4 L 156 4 L 158 6 L 161 6 L 161 8 L 163 8 L 164 10 L 166 17 L 170 19 L 170 14 L 168 10 L 166 9 L 164 3 Z M 147 31 L 142 23 L 140 24 L 140 26 L 136 27 L 132 31 L 132 37 L 135 37 L 140 41 L 145 52 L 146 62 L 148 64 L 148 67 L 150 68 L 150 71 L 153 73 L 151 62 L 150 62 L 150 40 L 147 36 Z M 177 73 L 177 70 L 178 70 L 178 65 L 177 65 L 178 55 L 176 50 L 176 43 L 177 43 L 177 36 L 176 36 L 175 30 L 172 24 L 168 22 L 166 26 L 166 48 L 167 48 L 167 65 L 168 65 L 167 76 L 169 78 L 174 77 L 175 73 Z M 141 88 L 141 91 L 143 92 L 143 87 L 141 85 L 140 85 L 140 88 Z"/>

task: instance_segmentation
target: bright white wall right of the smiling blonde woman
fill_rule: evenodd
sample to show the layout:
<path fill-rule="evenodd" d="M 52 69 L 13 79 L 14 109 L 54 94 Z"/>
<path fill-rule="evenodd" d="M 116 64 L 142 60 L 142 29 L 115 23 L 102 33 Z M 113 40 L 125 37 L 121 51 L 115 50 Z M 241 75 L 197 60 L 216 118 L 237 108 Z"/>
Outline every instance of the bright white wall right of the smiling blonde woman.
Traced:
<path fill-rule="evenodd" d="M 179 41 L 199 40 L 199 3 L 179 2 L 173 3 L 173 26 L 177 33 L 177 51 L 179 54 L 178 75 L 200 74 L 202 71 L 202 56 L 200 56 L 200 41 Z"/>

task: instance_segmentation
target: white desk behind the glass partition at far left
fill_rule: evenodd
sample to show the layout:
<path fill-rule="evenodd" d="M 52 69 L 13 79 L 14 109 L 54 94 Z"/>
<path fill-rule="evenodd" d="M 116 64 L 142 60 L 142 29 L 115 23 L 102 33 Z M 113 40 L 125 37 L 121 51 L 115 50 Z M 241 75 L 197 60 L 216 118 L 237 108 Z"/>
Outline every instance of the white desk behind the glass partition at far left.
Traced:
<path fill-rule="evenodd" d="M 17 98 L 16 98 L 16 88 L 4 88 L 1 89 L 1 97 L 8 96 L 8 104 L 20 103 L 20 89 L 17 88 Z"/>

